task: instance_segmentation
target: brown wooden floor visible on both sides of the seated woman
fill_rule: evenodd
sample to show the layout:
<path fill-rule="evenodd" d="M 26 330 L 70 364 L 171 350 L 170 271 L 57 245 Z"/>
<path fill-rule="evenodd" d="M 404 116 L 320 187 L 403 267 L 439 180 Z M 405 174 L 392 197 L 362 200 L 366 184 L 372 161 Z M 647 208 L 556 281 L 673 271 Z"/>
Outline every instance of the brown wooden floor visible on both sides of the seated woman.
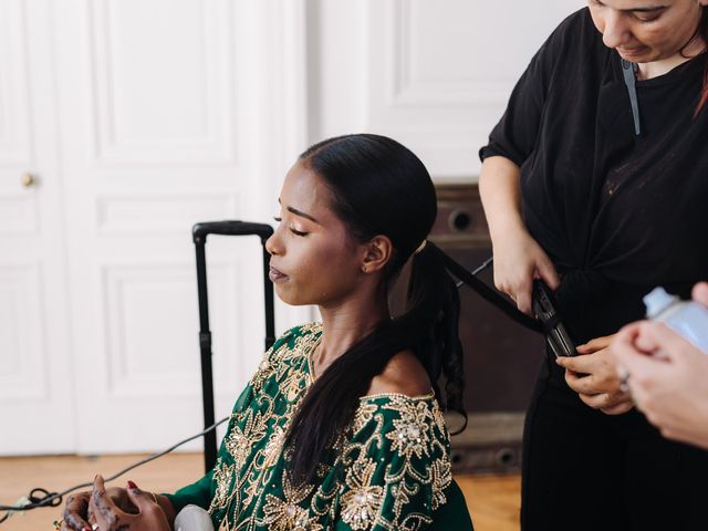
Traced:
<path fill-rule="evenodd" d="M 90 481 L 95 473 L 107 477 L 143 456 L 0 458 L 0 504 L 13 504 L 34 487 L 64 490 Z M 202 475 L 201 454 L 174 454 L 128 472 L 111 485 L 128 479 L 145 490 L 171 491 Z M 520 479 L 517 476 L 457 476 L 475 521 L 476 531 L 518 531 Z M 52 530 L 58 508 L 14 514 L 0 531 Z M 0 512 L 0 516 L 3 516 Z"/>

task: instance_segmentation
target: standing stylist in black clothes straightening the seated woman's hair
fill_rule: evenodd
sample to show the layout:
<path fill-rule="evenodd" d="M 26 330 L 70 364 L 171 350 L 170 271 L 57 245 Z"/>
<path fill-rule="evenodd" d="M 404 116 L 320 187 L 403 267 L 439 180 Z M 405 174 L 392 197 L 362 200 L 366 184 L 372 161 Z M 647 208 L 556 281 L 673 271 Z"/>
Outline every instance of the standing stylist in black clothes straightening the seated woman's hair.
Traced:
<path fill-rule="evenodd" d="M 708 452 L 633 409 L 606 347 L 652 288 L 687 296 L 708 278 L 708 0 L 589 4 L 535 54 L 480 152 L 497 287 L 530 312 L 542 278 L 580 345 L 539 375 L 522 529 L 705 529 Z"/>

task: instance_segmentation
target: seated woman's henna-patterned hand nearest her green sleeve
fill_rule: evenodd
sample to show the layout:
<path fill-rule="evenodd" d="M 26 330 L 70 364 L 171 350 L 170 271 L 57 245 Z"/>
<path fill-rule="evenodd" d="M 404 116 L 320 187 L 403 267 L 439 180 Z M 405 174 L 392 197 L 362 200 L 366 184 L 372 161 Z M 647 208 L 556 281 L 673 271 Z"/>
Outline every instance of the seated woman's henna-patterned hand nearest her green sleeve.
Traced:
<path fill-rule="evenodd" d="M 101 476 L 93 482 L 88 509 L 100 531 L 170 531 L 165 512 L 155 499 L 128 481 L 127 497 L 137 512 L 126 512 L 108 496 Z"/>

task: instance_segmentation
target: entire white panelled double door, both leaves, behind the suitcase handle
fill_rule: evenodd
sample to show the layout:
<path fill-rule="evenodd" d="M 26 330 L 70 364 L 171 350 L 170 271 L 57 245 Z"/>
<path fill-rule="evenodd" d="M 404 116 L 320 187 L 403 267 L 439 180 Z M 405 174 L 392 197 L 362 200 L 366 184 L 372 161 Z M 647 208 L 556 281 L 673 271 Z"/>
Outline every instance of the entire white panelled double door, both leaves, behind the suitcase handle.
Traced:
<path fill-rule="evenodd" d="M 275 214 L 305 147 L 304 8 L 0 0 L 0 455 L 200 429 L 191 227 Z M 261 257 L 207 246 L 217 418 L 263 351 Z"/>

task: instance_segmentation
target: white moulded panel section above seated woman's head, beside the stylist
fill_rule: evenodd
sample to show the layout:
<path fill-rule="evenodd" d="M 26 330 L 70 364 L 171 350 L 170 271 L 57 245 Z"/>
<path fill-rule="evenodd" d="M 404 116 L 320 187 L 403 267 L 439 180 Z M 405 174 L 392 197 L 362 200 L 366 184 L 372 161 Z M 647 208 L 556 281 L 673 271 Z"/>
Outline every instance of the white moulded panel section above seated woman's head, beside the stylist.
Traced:
<path fill-rule="evenodd" d="M 431 175 L 468 183 L 509 95 L 553 29 L 584 0 L 368 0 L 365 128 L 392 135 Z M 340 76 L 333 76 L 342 83 Z M 329 82 L 331 83 L 331 82 Z"/>

